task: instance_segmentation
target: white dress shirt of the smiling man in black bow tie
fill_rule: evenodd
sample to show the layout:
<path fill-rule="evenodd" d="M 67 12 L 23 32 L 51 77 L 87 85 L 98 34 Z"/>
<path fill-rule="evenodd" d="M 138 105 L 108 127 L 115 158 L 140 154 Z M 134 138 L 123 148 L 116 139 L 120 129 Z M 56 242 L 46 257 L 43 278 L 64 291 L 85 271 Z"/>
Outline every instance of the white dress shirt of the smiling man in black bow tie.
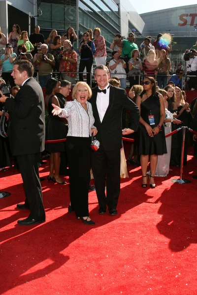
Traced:
<path fill-rule="evenodd" d="M 106 94 L 104 94 L 103 92 L 97 93 L 97 109 L 99 113 L 100 122 L 102 122 L 102 119 L 104 118 L 106 110 L 109 106 L 109 83 L 104 89 L 106 89 Z"/>

